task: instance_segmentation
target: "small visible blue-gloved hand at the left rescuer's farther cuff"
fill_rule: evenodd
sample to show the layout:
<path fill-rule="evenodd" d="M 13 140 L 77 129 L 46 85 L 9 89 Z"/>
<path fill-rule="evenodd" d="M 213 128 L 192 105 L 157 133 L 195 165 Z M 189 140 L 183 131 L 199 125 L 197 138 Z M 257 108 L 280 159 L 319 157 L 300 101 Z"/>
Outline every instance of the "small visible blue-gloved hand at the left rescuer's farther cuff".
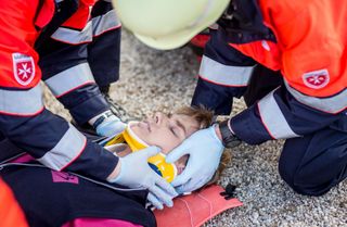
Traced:
<path fill-rule="evenodd" d="M 111 137 L 121 133 L 126 128 L 124 124 L 116 115 L 110 112 L 102 114 L 93 124 L 97 134 L 99 136 Z"/>

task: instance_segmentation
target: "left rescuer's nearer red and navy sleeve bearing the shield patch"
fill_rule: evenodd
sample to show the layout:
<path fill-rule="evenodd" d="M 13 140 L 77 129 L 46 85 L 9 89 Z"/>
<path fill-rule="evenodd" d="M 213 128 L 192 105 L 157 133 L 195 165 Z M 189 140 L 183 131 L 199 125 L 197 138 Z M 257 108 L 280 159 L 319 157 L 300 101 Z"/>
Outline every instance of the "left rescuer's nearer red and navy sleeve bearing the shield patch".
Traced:
<path fill-rule="evenodd" d="M 43 106 L 38 54 L 33 49 L 36 7 L 34 0 L 0 3 L 1 134 L 52 169 L 105 179 L 118 159 Z"/>

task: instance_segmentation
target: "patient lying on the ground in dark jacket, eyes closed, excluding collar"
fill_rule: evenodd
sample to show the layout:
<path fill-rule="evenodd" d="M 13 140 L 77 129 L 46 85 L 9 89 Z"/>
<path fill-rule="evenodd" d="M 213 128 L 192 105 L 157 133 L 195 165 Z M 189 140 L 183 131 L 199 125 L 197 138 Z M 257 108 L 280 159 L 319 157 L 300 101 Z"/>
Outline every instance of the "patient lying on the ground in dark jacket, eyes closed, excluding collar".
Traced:
<path fill-rule="evenodd" d="M 210 121 L 211 113 L 206 110 L 184 108 L 171 115 L 156 113 L 132 125 L 131 130 L 149 146 L 168 153 L 194 131 L 208 127 Z M 121 149 L 118 146 L 116 154 L 129 152 L 127 146 Z M 175 163 L 178 172 L 182 172 L 187 159 Z M 144 207 L 147 196 L 144 190 L 121 189 L 42 166 L 10 165 L 0 175 L 12 188 L 31 227 L 155 226 L 153 214 Z"/>

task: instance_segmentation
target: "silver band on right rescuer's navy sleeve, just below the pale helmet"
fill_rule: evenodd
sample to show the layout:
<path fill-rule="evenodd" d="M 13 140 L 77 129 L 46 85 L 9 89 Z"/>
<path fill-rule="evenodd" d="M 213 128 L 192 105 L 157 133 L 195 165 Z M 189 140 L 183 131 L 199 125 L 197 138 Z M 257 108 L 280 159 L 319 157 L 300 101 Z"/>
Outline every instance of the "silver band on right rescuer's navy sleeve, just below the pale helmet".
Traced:
<path fill-rule="evenodd" d="M 220 85 L 247 86 L 253 70 L 254 66 L 224 65 L 204 55 L 198 74 L 203 79 Z"/>

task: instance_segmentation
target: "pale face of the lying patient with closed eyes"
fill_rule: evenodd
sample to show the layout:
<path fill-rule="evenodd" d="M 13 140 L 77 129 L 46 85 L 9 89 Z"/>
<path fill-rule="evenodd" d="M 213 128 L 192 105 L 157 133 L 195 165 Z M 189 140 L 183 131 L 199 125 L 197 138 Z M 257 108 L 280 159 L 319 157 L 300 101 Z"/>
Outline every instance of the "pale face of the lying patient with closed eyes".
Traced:
<path fill-rule="evenodd" d="M 139 138 L 150 146 L 160 148 L 165 154 L 182 143 L 198 128 L 198 123 L 191 116 L 183 114 L 165 115 L 159 112 L 131 127 Z"/>

